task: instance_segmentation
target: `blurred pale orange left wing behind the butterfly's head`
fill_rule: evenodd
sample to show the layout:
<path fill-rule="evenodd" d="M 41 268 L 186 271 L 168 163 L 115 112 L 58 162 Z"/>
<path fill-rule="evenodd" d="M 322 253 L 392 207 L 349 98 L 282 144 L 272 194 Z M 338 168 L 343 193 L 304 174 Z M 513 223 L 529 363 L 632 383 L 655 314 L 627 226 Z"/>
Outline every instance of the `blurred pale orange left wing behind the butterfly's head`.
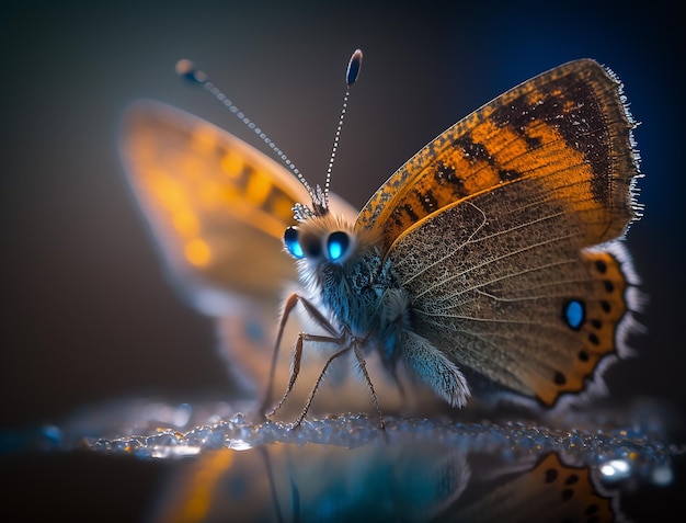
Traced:
<path fill-rule="evenodd" d="M 129 109 L 121 151 L 172 281 L 198 309 L 224 314 L 222 297 L 235 295 L 277 306 L 284 283 L 297 278 L 281 237 L 307 195 L 290 172 L 156 102 Z"/>

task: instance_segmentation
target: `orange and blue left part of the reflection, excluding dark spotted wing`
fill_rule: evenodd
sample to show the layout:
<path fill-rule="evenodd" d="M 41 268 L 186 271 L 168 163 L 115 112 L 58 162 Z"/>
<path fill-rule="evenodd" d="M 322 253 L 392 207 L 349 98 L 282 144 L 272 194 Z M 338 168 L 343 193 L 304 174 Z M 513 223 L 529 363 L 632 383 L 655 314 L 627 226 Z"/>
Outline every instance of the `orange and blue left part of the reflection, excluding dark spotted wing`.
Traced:
<path fill-rule="evenodd" d="M 221 448 L 171 476 L 150 521 L 436 521 L 469 478 L 466 452 L 439 444 Z"/>

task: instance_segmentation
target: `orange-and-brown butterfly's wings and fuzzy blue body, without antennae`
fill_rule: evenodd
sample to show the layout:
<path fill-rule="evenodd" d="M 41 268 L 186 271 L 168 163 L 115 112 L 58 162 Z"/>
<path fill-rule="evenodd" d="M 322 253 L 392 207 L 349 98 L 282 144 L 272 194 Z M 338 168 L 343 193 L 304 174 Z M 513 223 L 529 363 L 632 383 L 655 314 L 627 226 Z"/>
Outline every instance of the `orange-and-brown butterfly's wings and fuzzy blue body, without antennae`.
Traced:
<path fill-rule="evenodd" d="M 573 61 L 441 134 L 356 218 L 328 190 L 171 107 L 136 105 L 122 150 L 169 268 L 222 318 L 251 379 L 268 380 L 263 327 L 296 280 L 284 238 L 302 282 L 284 317 L 306 310 L 316 334 L 286 334 L 298 340 L 295 372 L 282 357 L 277 384 L 290 390 L 300 369 L 311 385 L 330 362 L 335 376 L 341 356 L 369 371 L 384 407 L 387 393 L 402 401 L 397 368 L 451 406 L 496 388 L 550 407 L 597 382 L 630 326 L 634 281 L 614 240 L 638 208 L 632 127 L 616 77 Z M 312 362 L 312 345 L 329 350 L 324 360 Z M 347 407 L 343 397 L 332 393 L 332 408 Z"/>

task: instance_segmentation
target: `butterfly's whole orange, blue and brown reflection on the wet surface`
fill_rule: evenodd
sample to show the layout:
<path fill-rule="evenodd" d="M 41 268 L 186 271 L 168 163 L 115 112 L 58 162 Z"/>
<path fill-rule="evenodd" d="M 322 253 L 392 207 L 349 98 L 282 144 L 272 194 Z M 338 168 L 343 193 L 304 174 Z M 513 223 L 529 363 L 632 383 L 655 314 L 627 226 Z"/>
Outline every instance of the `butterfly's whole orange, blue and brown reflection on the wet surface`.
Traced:
<path fill-rule="evenodd" d="M 485 462 L 468 443 L 409 446 L 272 443 L 204 453 L 167 482 L 151 521 L 624 521 L 619 491 L 556 454 L 508 468 L 498 452 Z"/>

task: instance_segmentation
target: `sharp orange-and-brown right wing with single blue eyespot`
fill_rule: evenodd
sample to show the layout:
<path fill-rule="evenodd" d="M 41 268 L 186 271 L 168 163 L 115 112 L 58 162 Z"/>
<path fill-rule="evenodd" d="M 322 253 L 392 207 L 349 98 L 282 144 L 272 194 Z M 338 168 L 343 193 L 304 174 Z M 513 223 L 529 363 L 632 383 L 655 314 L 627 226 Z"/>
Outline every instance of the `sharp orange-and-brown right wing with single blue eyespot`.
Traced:
<path fill-rule="evenodd" d="M 636 217 L 632 121 L 592 60 L 506 92 L 430 143 L 371 197 L 412 325 L 462 369 L 552 406 L 616 354 L 631 268 L 588 250 Z"/>

